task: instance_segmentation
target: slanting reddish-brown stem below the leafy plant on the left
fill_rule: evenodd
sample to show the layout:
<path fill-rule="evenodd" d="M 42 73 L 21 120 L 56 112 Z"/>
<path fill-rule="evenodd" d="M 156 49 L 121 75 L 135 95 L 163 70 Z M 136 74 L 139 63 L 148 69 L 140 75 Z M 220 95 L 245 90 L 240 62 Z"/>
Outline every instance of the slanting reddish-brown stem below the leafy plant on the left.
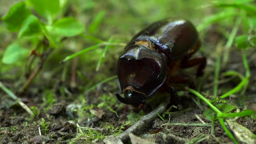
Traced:
<path fill-rule="evenodd" d="M 39 64 L 37 65 L 36 69 L 34 70 L 34 72 L 29 76 L 29 78 L 26 80 L 26 82 L 23 84 L 23 86 L 19 89 L 18 93 L 23 93 L 24 90 L 31 84 L 31 82 L 33 81 L 33 79 L 35 79 L 36 75 L 40 72 L 40 70 L 43 67 L 44 62 L 46 61 L 47 57 L 49 56 L 49 54 L 53 52 L 52 48 L 49 48 L 45 53 L 43 53 L 42 55 L 42 59 L 39 62 Z"/>

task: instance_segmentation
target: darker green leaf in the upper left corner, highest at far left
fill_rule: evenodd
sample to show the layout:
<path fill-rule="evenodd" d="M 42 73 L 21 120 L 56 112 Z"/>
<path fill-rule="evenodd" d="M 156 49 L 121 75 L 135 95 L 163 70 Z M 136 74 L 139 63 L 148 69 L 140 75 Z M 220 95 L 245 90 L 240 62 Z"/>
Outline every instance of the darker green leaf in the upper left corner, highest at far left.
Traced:
<path fill-rule="evenodd" d="M 31 12 L 26 7 L 26 4 L 21 1 L 11 7 L 9 13 L 3 16 L 2 20 L 7 26 L 7 29 L 11 31 L 18 31 L 23 20 L 25 20 L 30 14 Z"/>

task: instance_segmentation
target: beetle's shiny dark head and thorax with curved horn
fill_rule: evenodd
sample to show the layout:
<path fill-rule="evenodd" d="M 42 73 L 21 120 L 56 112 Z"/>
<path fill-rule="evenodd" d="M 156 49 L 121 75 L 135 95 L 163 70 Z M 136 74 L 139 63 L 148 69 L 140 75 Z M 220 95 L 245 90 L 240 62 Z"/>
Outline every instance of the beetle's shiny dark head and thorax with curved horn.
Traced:
<path fill-rule="evenodd" d="M 139 105 L 152 95 L 166 79 L 166 58 L 141 45 L 131 45 L 118 59 L 118 80 L 125 98 L 119 101 Z"/>

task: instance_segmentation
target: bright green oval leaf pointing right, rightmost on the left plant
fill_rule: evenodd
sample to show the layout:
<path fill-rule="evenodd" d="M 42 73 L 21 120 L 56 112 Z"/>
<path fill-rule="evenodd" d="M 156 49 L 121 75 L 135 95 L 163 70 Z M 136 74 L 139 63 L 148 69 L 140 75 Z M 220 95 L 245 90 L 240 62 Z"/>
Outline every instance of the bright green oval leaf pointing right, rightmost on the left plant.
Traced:
<path fill-rule="evenodd" d="M 84 32 L 84 26 L 73 17 L 66 17 L 56 21 L 53 26 L 46 27 L 49 32 L 59 36 L 76 36 Z"/>

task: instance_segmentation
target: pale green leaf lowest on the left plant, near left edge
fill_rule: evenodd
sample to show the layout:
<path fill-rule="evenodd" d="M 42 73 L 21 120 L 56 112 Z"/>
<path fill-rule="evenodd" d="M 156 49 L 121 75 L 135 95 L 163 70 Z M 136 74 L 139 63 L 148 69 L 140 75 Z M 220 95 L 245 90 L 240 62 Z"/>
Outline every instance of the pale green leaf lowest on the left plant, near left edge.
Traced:
<path fill-rule="evenodd" d="M 17 43 L 10 44 L 5 50 L 2 58 L 2 62 L 5 64 L 12 64 L 28 54 L 28 50 L 24 49 Z"/>

